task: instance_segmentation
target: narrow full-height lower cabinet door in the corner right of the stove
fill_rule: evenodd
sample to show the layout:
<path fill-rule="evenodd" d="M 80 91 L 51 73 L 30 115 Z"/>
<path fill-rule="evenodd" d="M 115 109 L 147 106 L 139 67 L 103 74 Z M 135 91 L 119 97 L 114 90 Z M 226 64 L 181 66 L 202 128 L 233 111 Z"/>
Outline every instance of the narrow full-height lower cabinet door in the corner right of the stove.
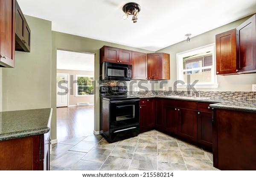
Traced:
<path fill-rule="evenodd" d="M 151 129 L 155 126 L 154 119 L 154 99 L 147 99 L 147 119 L 146 119 L 146 128 Z"/>

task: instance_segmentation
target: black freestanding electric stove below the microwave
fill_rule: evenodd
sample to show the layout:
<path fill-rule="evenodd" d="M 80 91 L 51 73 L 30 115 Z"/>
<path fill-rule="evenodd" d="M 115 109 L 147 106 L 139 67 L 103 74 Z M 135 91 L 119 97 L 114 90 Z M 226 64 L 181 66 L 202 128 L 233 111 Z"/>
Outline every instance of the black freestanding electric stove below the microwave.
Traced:
<path fill-rule="evenodd" d="M 127 96 L 127 87 L 100 87 L 100 127 L 108 142 L 140 133 L 140 98 Z"/>

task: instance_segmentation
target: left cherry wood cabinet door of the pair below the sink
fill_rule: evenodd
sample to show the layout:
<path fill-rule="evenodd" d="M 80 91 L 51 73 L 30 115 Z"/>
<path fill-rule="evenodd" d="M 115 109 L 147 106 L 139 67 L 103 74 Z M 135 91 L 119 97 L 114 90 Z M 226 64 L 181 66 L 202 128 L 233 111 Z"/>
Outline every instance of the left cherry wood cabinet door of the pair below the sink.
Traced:
<path fill-rule="evenodd" d="M 177 134 L 177 108 L 163 105 L 163 130 Z"/>

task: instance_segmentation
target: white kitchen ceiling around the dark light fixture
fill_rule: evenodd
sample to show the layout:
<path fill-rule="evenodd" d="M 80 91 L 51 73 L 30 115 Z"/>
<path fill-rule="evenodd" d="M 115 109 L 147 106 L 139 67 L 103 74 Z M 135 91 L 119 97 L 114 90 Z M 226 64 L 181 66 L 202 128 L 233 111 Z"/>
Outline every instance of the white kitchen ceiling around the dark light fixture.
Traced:
<path fill-rule="evenodd" d="M 138 22 L 122 6 L 141 6 Z M 52 30 L 157 51 L 256 12 L 256 0 L 18 0 L 24 14 Z"/>

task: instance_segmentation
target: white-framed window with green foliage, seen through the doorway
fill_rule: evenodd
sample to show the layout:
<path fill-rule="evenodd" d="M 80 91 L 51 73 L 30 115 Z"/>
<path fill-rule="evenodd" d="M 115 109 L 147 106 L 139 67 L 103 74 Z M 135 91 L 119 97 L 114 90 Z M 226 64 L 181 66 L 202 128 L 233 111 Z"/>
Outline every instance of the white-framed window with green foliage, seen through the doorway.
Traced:
<path fill-rule="evenodd" d="M 76 96 L 93 95 L 94 84 L 93 76 L 76 75 Z"/>

